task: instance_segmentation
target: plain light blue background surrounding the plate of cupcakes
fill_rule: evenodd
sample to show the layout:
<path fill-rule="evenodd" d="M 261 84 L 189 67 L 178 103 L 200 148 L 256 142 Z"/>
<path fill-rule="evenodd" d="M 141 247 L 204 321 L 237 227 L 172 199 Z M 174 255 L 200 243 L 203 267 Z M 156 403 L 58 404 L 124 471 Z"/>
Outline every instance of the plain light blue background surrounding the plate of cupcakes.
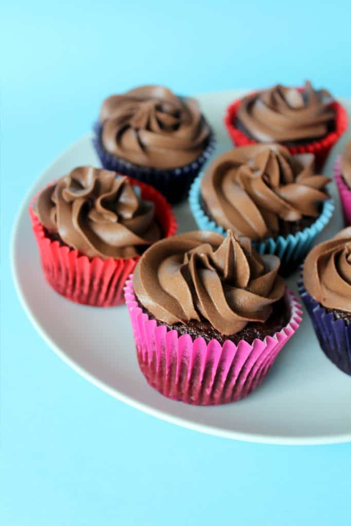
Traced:
<path fill-rule="evenodd" d="M 343 524 L 351 444 L 205 436 L 110 398 L 47 348 L 15 296 L 8 247 L 32 181 L 102 99 L 300 84 L 351 96 L 351 4 L 2 2 L 1 452 L 4 526 Z"/>

